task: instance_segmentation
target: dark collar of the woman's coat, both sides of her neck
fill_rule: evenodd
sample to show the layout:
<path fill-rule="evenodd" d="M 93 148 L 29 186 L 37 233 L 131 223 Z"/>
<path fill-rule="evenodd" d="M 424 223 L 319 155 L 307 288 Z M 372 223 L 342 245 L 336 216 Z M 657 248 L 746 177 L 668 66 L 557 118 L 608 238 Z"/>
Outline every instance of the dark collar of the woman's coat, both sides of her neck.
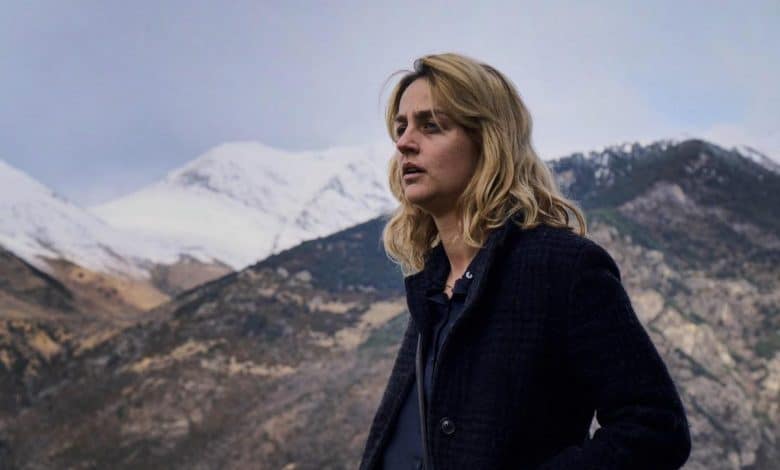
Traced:
<path fill-rule="evenodd" d="M 503 248 L 507 236 L 516 228 L 516 221 L 520 217 L 520 215 L 508 217 L 501 227 L 494 229 L 488 234 L 484 246 L 480 248 L 484 252 L 478 253 L 477 258 L 475 258 L 477 263 L 475 263 L 473 269 L 478 275 L 470 286 L 461 319 L 468 315 L 471 305 L 484 290 L 485 281 L 493 260 L 496 258 L 496 253 Z M 439 242 L 431 249 L 423 270 L 404 279 L 409 313 L 421 331 L 430 331 L 435 321 L 433 312 L 430 311 L 430 305 L 428 305 L 426 299 L 429 295 L 444 289 L 444 283 L 448 274 L 449 260 L 444 252 L 444 246 Z"/>

